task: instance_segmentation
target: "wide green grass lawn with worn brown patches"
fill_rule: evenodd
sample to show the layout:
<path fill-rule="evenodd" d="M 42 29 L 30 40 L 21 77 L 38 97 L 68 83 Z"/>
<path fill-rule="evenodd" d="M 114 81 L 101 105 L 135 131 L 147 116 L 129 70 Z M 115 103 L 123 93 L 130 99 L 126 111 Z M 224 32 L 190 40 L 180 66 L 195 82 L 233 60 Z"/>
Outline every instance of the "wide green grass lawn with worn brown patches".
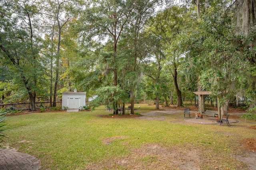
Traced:
<path fill-rule="evenodd" d="M 135 112 L 155 107 L 140 106 Z M 231 127 L 183 123 L 182 111 L 163 115 L 164 120 L 99 117 L 110 113 L 101 106 L 9 116 L 2 146 L 35 156 L 42 170 L 238 170 L 246 168 L 236 158 L 246 153 L 241 141 L 256 137 L 248 128 L 255 121 L 238 119 Z"/>

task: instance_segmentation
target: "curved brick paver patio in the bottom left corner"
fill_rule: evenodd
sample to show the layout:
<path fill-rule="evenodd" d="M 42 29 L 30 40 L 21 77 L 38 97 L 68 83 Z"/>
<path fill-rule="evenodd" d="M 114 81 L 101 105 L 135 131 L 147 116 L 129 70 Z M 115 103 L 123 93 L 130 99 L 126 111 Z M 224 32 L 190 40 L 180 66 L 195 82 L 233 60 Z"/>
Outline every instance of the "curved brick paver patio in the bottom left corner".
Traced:
<path fill-rule="evenodd" d="M 0 149 L 0 170 L 39 170 L 39 162 L 29 154 Z"/>

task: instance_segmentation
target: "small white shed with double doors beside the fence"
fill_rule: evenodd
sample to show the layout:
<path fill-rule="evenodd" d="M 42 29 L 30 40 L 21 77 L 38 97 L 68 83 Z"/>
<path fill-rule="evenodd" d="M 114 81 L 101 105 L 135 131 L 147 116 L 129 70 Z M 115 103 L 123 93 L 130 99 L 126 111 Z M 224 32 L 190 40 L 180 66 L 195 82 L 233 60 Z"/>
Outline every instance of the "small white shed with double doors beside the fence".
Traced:
<path fill-rule="evenodd" d="M 79 109 L 80 106 L 86 106 L 86 92 L 63 92 L 62 94 L 62 109 Z"/>

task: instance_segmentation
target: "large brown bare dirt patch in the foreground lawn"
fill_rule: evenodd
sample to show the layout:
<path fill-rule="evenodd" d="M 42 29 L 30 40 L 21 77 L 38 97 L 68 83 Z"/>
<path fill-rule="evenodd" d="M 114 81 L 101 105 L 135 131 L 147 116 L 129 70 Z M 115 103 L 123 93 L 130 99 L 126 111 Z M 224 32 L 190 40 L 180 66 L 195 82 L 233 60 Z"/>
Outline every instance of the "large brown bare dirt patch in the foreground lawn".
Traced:
<path fill-rule="evenodd" d="M 198 170 L 201 154 L 195 149 L 181 149 L 178 147 L 162 147 L 158 144 L 145 144 L 141 148 L 132 149 L 131 154 L 121 158 L 106 160 L 106 162 L 92 163 L 86 169 L 126 169 L 167 170 Z"/>

